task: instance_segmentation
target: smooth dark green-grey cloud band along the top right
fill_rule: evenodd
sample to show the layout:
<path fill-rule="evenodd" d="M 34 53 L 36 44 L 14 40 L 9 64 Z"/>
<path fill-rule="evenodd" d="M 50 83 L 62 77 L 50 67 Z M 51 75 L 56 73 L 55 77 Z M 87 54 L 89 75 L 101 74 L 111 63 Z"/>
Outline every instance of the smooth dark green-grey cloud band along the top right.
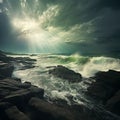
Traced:
<path fill-rule="evenodd" d="M 118 0 L 58 0 L 54 3 L 59 4 L 61 10 L 52 25 L 63 26 L 65 29 L 94 19 L 105 8 L 117 10 L 120 5 Z"/>

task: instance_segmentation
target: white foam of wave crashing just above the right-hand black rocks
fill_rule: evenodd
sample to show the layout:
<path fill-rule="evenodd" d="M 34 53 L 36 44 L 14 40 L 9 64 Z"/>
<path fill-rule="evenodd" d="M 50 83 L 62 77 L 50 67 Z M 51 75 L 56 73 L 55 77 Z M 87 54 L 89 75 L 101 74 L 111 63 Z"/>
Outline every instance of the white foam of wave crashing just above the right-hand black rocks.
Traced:
<path fill-rule="evenodd" d="M 91 77 L 98 71 L 108 71 L 109 69 L 120 71 L 120 60 L 107 57 L 93 57 L 84 65 L 80 73 L 84 77 Z"/>

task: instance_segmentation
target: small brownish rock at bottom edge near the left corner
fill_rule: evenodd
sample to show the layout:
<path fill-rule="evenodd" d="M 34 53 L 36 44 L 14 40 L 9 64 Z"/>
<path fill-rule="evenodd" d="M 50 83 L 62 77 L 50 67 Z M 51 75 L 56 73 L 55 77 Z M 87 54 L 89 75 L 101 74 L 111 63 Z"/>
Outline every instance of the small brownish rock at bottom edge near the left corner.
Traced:
<path fill-rule="evenodd" d="M 5 113 L 10 120 L 30 120 L 23 112 L 16 106 L 12 106 L 5 110 Z"/>

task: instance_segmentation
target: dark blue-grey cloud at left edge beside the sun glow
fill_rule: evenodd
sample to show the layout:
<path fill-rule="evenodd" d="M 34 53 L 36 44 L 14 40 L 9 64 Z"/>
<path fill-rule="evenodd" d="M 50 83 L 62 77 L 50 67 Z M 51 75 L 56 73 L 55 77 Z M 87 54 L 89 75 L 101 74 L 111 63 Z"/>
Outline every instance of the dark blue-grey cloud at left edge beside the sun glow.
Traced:
<path fill-rule="evenodd" d="M 8 16 L 4 12 L 0 13 L 0 49 L 12 52 L 26 50 L 25 42 L 17 41 L 16 34 Z"/>

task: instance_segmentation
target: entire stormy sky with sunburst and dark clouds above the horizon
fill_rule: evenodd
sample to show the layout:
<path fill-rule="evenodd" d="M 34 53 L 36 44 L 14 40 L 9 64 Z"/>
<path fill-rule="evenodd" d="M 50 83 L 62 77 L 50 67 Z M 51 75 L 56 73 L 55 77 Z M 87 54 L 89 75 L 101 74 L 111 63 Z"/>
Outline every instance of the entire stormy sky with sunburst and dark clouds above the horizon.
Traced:
<path fill-rule="evenodd" d="M 0 0 L 0 49 L 120 56 L 120 0 Z"/>

